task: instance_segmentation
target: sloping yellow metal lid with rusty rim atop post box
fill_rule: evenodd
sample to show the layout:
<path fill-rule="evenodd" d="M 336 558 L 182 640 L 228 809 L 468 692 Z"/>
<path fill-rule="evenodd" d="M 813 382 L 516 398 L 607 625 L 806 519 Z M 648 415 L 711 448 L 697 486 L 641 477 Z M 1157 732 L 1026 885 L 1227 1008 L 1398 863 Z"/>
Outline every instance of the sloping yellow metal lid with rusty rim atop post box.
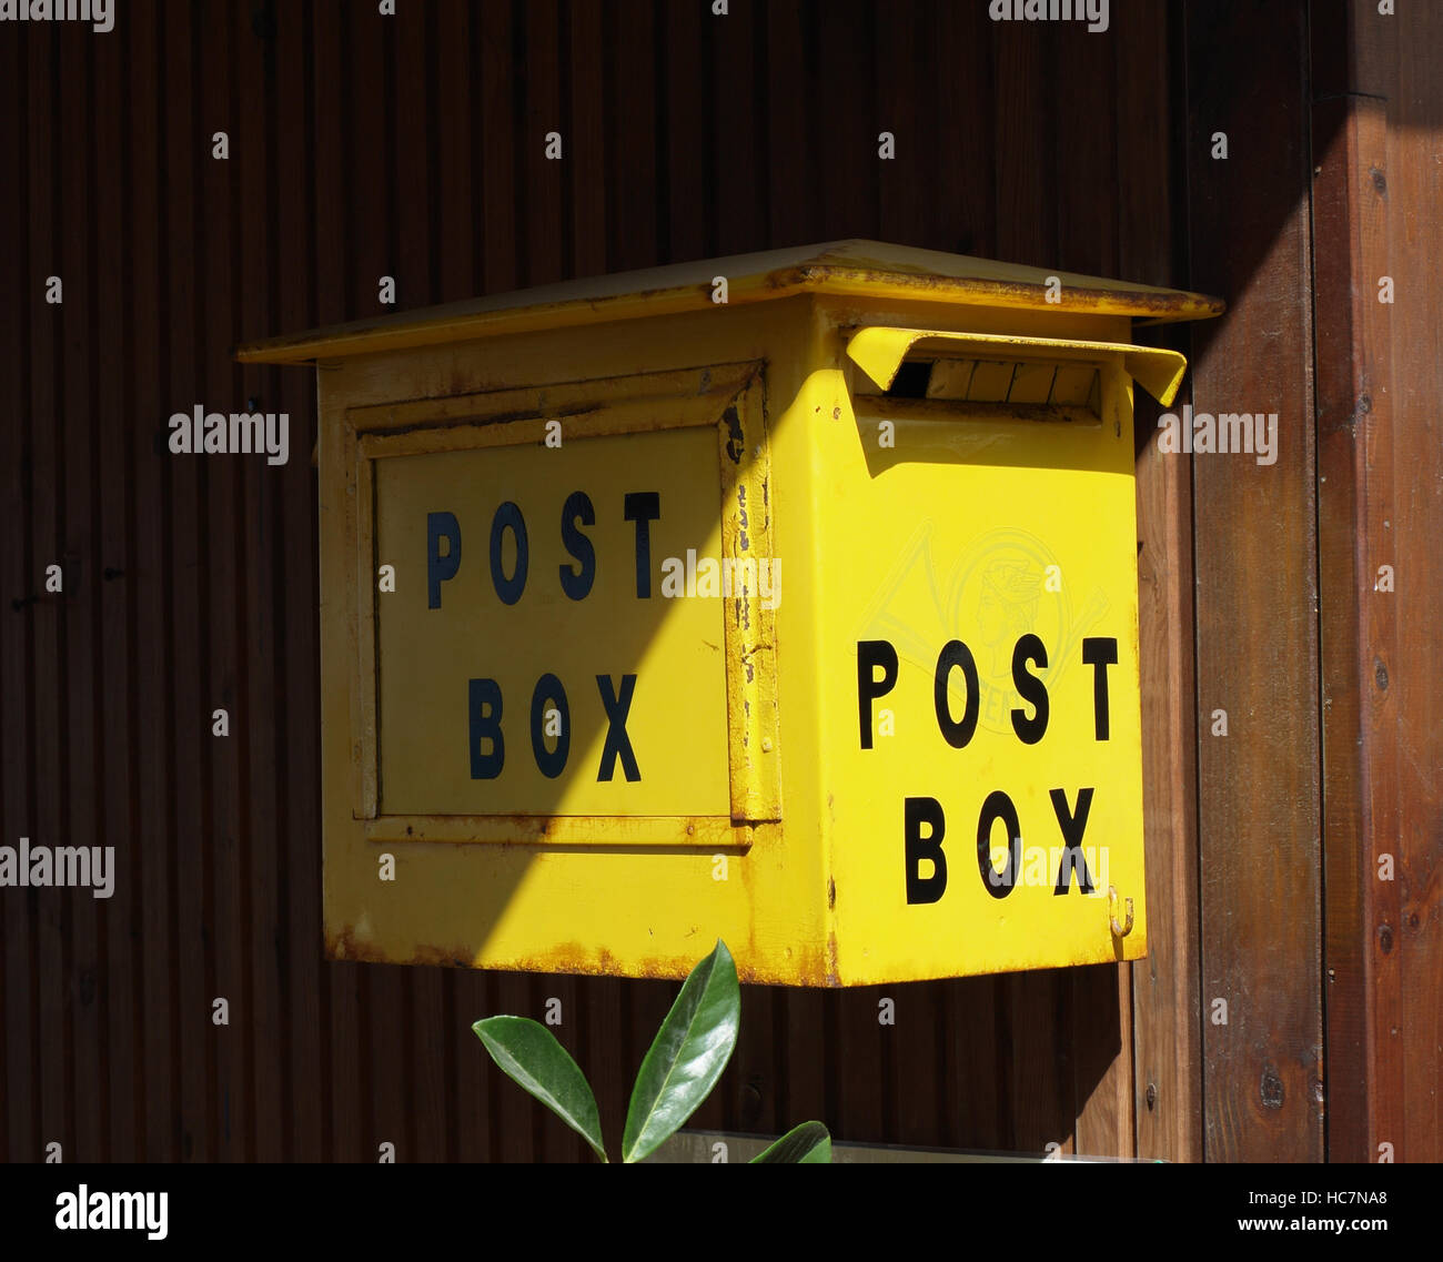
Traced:
<path fill-rule="evenodd" d="M 237 349 L 235 358 L 242 363 L 304 363 L 469 342 L 499 333 L 706 310 L 713 306 L 717 277 L 727 281 L 729 306 L 810 291 L 872 300 L 1131 316 L 1149 323 L 1206 319 L 1224 309 L 1219 299 L 1183 290 L 853 239 L 681 262 L 378 314 L 248 342 Z M 1059 281 L 1062 288 L 1056 294 Z M 1053 301 L 1048 300 L 1049 291 Z"/>

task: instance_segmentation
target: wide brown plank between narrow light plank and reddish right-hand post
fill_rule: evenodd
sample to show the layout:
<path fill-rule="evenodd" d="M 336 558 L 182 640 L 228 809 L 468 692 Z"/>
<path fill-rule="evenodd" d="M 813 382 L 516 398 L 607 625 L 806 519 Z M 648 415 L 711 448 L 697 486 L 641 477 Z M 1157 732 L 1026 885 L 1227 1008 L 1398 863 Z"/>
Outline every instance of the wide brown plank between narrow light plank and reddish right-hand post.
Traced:
<path fill-rule="evenodd" d="M 1203 12 L 1206 9 L 1206 12 Z M 1205 1155 L 1322 1157 L 1316 495 L 1303 6 L 1186 12 L 1193 407 L 1278 414 L 1274 464 L 1193 459 Z M 1228 65 L 1221 76 L 1215 68 Z M 1266 98 L 1237 82 L 1268 84 Z M 1209 156 L 1225 131 L 1229 156 Z M 1250 646 L 1266 645 L 1266 652 Z M 1228 736 L 1212 736 L 1214 711 Z M 1266 769 L 1266 775 L 1263 770 Z M 1214 1004 L 1228 1024 L 1214 1024 Z M 1221 1010 L 1218 1010 L 1221 1012 Z"/>

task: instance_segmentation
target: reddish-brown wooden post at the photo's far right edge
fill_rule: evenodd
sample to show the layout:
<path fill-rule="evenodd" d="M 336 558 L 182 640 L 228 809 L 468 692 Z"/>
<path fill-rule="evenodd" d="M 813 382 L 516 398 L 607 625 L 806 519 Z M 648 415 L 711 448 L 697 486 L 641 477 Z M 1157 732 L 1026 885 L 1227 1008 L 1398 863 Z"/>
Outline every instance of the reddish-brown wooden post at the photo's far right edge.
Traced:
<path fill-rule="evenodd" d="M 1436 1161 L 1443 740 L 1426 663 L 1443 625 L 1429 512 L 1443 374 L 1421 280 L 1439 234 L 1417 208 L 1440 195 L 1439 23 L 1336 0 L 1315 6 L 1312 35 L 1328 1155 Z"/>

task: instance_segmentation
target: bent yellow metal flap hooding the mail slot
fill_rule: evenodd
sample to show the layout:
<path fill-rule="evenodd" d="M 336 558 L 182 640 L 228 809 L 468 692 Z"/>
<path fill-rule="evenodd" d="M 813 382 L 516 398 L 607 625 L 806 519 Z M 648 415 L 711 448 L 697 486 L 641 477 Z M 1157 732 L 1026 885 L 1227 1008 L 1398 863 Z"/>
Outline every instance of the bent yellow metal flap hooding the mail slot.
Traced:
<path fill-rule="evenodd" d="M 1078 342 L 1065 337 L 1025 337 L 1001 333 L 948 333 L 937 329 L 859 329 L 847 342 L 848 358 L 880 389 L 889 389 L 913 349 L 928 345 L 954 356 L 991 361 L 1108 363 L 1121 359 L 1123 369 L 1163 407 L 1173 401 L 1188 361 L 1176 350 L 1130 346 L 1124 342 Z"/>

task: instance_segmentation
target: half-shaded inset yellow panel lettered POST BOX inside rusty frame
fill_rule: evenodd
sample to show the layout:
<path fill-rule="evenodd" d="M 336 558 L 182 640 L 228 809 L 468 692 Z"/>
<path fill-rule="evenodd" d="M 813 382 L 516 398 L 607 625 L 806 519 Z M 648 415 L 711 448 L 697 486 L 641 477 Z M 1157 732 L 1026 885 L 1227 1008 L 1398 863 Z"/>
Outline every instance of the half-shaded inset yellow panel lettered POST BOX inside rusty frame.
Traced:
<path fill-rule="evenodd" d="M 710 427 L 375 462 L 382 815 L 730 809 Z M 670 571 L 668 571 L 670 573 Z"/>

